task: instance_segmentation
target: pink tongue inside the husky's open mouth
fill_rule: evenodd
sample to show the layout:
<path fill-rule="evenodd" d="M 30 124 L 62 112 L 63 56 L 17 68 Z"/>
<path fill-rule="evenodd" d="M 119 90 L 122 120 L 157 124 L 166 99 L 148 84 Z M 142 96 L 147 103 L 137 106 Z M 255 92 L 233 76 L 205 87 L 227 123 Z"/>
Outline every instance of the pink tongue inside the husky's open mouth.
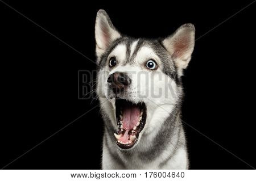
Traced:
<path fill-rule="evenodd" d="M 133 129 L 139 120 L 141 110 L 136 106 L 123 108 L 123 128 L 126 130 Z"/>

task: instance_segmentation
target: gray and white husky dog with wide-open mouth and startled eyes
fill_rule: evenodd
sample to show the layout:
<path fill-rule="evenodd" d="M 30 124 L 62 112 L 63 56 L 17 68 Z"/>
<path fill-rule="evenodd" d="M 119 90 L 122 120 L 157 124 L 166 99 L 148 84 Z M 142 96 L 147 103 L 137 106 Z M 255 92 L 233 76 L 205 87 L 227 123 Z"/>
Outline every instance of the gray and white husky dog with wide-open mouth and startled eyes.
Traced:
<path fill-rule="evenodd" d="M 181 76 L 195 44 L 193 24 L 165 39 L 134 39 L 99 10 L 95 37 L 102 169 L 188 169 Z"/>

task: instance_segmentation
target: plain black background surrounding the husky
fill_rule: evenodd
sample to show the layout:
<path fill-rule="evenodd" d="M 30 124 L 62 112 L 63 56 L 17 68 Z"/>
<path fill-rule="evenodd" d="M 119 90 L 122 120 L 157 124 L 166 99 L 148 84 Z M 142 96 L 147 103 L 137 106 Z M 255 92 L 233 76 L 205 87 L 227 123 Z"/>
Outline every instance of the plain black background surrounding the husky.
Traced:
<path fill-rule="evenodd" d="M 196 38 L 252 1 L 139 2 L 7 1 L 91 60 L 94 21 L 105 9 L 134 37 L 168 36 L 193 23 Z M 196 41 L 183 78 L 183 120 L 255 167 L 256 3 Z M 78 71 L 96 65 L 0 2 L 0 167 L 97 106 L 78 99 Z M 100 169 L 99 107 L 16 159 L 5 169 Z M 184 125 L 191 169 L 252 169 Z"/>

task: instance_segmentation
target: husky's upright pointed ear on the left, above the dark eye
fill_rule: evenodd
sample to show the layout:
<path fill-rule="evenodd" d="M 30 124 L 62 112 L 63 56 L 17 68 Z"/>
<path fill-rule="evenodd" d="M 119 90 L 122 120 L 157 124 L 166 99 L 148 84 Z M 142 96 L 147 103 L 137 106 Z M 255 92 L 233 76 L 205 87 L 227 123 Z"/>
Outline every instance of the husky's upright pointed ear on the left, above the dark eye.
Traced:
<path fill-rule="evenodd" d="M 120 33 L 115 30 L 108 14 L 104 10 L 99 10 L 95 23 L 96 55 L 99 59 L 109 45 L 121 37 Z"/>

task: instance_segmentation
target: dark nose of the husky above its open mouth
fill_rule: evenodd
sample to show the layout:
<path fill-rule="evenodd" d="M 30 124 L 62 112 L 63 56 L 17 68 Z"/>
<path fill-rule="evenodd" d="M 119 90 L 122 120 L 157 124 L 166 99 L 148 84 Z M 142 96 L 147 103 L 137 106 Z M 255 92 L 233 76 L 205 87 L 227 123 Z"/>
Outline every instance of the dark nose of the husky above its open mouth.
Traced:
<path fill-rule="evenodd" d="M 128 77 L 126 73 L 115 72 L 109 75 L 108 83 L 109 83 L 109 87 L 114 92 L 119 92 L 124 90 L 127 86 L 130 85 L 131 79 Z"/>

